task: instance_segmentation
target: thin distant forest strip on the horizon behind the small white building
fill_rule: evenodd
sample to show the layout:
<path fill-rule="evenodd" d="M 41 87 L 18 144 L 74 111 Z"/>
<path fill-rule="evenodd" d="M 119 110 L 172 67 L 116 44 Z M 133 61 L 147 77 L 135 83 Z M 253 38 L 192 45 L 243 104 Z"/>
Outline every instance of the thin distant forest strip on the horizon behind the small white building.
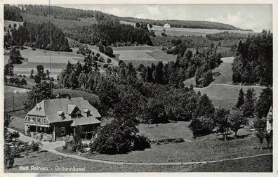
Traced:
<path fill-rule="evenodd" d="M 183 27 L 183 28 L 201 28 L 201 29 L 227 29 L 227 30 L 237 30 L 238 27 L 232 25 L 227 25 L 220 22 L 207 22 L 207 21 L 193 21 L 193 20 L 150 20 L 150 19 L 140 19 L 131 17 L 119 17 L 119 20 L 128 22 L 144 22 L 147 24 L 163 26 L 165 23 L 171 25 L 171 27 Z"/>

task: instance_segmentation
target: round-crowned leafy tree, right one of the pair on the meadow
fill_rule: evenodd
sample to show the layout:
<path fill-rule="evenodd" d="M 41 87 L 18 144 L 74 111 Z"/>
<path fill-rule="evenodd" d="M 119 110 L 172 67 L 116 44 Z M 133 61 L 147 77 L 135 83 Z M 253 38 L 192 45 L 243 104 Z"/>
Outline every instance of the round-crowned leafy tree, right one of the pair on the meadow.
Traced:
<path fill-rule="evenodd" d="M 230 129 L 234 131 L 234 138 L 237 138 L 237 131 L 248 124 L 248 119 L 239 110 L 232 110 L 229 115 Z"/>

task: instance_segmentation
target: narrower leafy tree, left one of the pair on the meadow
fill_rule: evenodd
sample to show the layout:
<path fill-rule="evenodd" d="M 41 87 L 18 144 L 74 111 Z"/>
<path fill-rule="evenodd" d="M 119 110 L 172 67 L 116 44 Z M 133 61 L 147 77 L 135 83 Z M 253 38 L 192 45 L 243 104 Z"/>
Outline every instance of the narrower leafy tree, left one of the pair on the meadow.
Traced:
<path fill-rule="evenodd" d="M 229 114 L 230 110 L 226 110 L 225 108 L 216 109 L 216 112 L 213 116 L 213 122 L 217 127 L 217 131 L 222 133 L 223 139 L 227 140 L 227 133 L 230 129 L 230 122 L 229 122 Z"/>

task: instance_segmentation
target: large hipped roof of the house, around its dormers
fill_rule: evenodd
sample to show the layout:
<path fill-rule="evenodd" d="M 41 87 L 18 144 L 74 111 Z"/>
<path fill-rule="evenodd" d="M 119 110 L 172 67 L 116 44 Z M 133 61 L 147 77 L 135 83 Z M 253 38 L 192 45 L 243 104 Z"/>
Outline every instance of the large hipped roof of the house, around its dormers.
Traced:
<path fill-rule="evenodd" d="M 88 100 L 84 98 L 62 98 L 62 99 L 50 99 L 50 100 L 42 100 L 41 103 L 37 104 L 38 106 L 34 107 L 30 110 L 27 114 L 28 115 L 37 115 L 46 117 L 50 123 L 53 122 L 65 122 L 73 120 L 68 112 L 72 112 L 72 107 L 78 107 L 81 110 L 81 115 L 83 117 L 87 117 L 87 113 L 82 112 L 84 109 L 90 110 L 90 117 L 88 119 L 93 119 L 95 117 L 101 117 L 100 113 L 98 112 L 95 107 L 93 107 Z M 40 107 L 37 109 L 37 107 Z M 60 116 L 57 114 L 58 112 L 65 113 L 65 119 L 61 120 Z"/>

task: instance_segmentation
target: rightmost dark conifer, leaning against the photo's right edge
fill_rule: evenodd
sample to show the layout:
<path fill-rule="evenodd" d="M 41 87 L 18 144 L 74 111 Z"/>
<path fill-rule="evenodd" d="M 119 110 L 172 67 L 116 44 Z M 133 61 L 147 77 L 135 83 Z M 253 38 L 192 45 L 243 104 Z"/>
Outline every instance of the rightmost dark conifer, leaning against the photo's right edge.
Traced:
<path fill-rule="evenodd" d="M 270 110 L 270 107 L 272 106 L 272 98 L 272 89 L 270 89 L 270 87 L 263 89 L 255 108 L 256 116 L 258 118 L 266 117 L 268 110 Z"/>

